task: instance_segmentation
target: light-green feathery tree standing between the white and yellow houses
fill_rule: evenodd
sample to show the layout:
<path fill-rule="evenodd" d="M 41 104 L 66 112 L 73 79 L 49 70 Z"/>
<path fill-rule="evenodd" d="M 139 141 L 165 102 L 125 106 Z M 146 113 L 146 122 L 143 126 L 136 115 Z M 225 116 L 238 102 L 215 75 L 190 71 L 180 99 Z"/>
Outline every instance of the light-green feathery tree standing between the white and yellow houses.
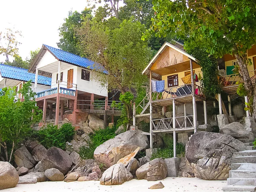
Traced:
<path fill-rule="evenodd" d="M 112 22 L 113 20 L 111 20 Z M 145 81 L 142 71 L 151 58 L 151 49 L 147 42 L 141 40 L 145 26 L 134 20 L 124 20 L 118 28 L 110 29 L 103 22 L 85 20 L 77 29 L 81 45 L 81 53 L 101 64 L 107 70 L 106 78 L 98 73 L 102 84 L 108 83 L 109 89 L 117 88 L 122 94 L 128 88 L 137 87 Z M 132 116 L 130 104 L 127 108 L 128 119 Z"/>

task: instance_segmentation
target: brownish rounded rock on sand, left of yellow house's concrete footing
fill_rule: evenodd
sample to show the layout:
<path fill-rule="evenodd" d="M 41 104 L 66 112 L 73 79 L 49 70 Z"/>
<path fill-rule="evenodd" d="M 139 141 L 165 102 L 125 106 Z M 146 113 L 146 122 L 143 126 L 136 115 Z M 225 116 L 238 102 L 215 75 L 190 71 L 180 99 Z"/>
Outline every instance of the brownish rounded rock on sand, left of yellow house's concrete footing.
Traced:
<path fill-rule="evenodd" d="M 162 158 L 151 160 L 136 171 L 137 178 L 152 180 L 162 180 L 167 177 L 167 165 Z"/>

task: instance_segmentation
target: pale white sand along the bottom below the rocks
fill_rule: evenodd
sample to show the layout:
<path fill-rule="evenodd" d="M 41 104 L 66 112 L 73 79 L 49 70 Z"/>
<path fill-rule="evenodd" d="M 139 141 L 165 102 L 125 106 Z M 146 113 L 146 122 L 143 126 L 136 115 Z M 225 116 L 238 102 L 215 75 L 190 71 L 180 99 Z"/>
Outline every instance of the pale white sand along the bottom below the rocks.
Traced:
<path fill-rule="evenodd" d="M 15 188 L 4 189 L 1 192 L 151 192 L 148 187 L 159 181 L 130 180 L 122 185 L 102 186 L 99 181 L 76 182 L 41 182 L 36 184 L 17 185 Z M 161 180 L 163 189 L 154 189 L 161 192 L 221 192 L 226 180 L 201 180 L 198 178 L 167 177 Z"/>

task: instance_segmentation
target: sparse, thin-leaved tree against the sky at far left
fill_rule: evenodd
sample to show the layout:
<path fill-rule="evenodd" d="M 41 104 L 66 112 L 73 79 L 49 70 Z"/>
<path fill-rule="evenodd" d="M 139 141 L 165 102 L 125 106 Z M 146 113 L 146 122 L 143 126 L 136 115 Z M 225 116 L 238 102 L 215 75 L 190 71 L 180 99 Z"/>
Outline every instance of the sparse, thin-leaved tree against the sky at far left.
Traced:
<path fill-rule="evenodd" d="M 7 28 L 6 32 L 0 32 L 0 55 L 6 56 L 6 61 L 9 61 L 9 56 L 17 55 L 18 45 L 17 37 L 21 37 L 20 31 Z"/>

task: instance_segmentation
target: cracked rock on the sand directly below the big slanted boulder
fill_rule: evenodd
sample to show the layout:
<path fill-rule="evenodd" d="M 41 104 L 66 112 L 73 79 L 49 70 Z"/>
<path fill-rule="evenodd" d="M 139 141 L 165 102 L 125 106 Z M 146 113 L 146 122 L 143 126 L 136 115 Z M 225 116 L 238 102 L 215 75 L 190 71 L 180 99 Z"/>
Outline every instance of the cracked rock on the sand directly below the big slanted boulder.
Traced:
<path fill-rule="evenodd" d="M 123 164 L 115 164 L 108 168 L 100 179 L 101 185 L 120 185 L 133 178 Z"/>

